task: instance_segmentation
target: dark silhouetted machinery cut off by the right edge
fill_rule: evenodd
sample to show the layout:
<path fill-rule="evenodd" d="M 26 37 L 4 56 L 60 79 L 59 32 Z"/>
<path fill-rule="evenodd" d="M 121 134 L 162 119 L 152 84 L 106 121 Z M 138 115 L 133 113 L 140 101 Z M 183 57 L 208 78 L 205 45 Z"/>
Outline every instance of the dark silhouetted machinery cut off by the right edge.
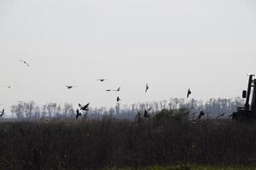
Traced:
<path fill-rule="evenodd" d="M 245 105 L 237 107 L 237 111 L 232 114 L 237 122 L 256 121 L 256 79 L 253 77 L 254 75 L 249 75 L 248 88 L 242 91 L 242 98 L 246 99 Z"/>

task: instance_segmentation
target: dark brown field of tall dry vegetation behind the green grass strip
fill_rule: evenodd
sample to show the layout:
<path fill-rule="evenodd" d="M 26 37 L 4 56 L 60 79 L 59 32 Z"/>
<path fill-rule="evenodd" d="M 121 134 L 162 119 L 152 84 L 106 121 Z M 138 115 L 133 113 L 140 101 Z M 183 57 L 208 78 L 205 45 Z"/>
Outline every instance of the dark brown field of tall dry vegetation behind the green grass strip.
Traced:
<path fill-rule="evenodd" d="M 256 125 L 187 114 L 1 122 L 0 169 L 253 169 Z"/>

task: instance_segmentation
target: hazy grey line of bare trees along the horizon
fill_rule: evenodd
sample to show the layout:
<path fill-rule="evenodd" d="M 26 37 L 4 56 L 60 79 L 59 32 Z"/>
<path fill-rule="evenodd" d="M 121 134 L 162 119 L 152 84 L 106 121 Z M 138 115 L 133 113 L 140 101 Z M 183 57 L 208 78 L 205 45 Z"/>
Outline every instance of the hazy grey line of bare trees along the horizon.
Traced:
<path fill-rule="evenodd" d="M 241 98 L 232 99 L 209 99 L 206 102 L 196 99 L 170 99 L 169 101 L 163 100 L 160 102 L 138 103 L 133 105 L 121 105 L 117 103 L 115 107 L 109 109 L 105 107 L 90 108 L 90 111 L 84 112 L 84 116 L 93 119 L 101 119 L 102 116 L 113 116 L 120 119 L 133 120 L 137 116 L 138 111 L 151 108 L 149 114 L 166 110 L 176 110 L 179 108 L 189 109 L 190 113 L 198 113 L 204 111 L 207 116 L 216 116 L 220 113 L 231 114 L 236 111 L 237 106 L 244 104 Z M 56 103 L 48 103 L 39 106 L 35 102 L 20 102 L 11 106 L 13 117 L 40 119 L 44 117 L 75 117 L 77 106 L 72 104 L 58 105 Z"/>

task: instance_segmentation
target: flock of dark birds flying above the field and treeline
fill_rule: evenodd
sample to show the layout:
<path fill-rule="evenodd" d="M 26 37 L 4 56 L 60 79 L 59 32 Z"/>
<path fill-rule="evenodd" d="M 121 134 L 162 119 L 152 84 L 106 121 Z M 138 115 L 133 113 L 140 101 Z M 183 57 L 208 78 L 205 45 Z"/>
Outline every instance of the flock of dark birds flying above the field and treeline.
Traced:
<path fill-rule="evenodd" d="M 30 67 L 30 65 L 29 65 L 25 60 L 20 59 L 20 62 L 23 63 L 24 65 L 26 65 L 27 67 Z M 106 78 L 101 78 L 101 79 L 97 79 L 97 80 L 100 81 L 100 82 L 108 81 L 108 79 L 106 79 Z M 76 87 L 76 86 L 73 86 L 73 85 L 67 85 L 67 86 L 66 86 L 67 89 L 71 89 L 71 88 L 75 88 L 75 87 Z M 7 88 L 11 88 L 11 86 L 8 85 Z M 146 94 L 148 93 L 148 89 L 149 89 L 149 86 L 148 86 L 148 83 L 147 83 L 147 84 L 146 84 L 146 87 L 145 87 L 145 93 L 146 93 Z M 119 92 L 120 90 L 121 90 L 120 87 L 117 88 L 117 89 L 113 89 L 113 90 L 111 90 L 111 89 L 106 89 L 107 92 L 111 92 L 111 91 Z M 188 92 L 187 92 L 187 99 L 189 99 L 189 95 L 191 95 L 191 94 L 192 94 L 192 92 L 191 92 L 191 90 L 190 90 L 190 88 L 189 88 L 189 89 L 188 89 Z M 118 96 L 118 97 L 116 98 L 116 101 L 119 102 L 120 100 L 121 100 L 121 99 L 120 99 L 119 96 Z M 86 105 L 81 105 L 81 104 L 79 104 L 79 109 L 77 109 L 77 111 L 76 111 L 76 119 L 78 119 L 79 116 L 82 116 L 82 112 L 80 112 L 80 111 L 89 111 L 89 105 L 90 105 L 90 103 L 88 103 L 88 104 L 86 104 Z M 148 118 L 148 117 L 149 117 L 149 114 L 148 114 L 149 111 L 151 111 L 151 107 L 150 107 L 149 109 L 145 109 L 145 110 L 143 111 L 143 116 L 144 116 L 145 118 Z M 0 111 L 0 113 L 1 113 L 0 117 L 2 117 L 2 116 L 4 115 L 4 109 L 3 109 L 3 111 Z M 137 114 L 138 114 L 138 115 L 137 115 L 138 117 L 141 117 L 142 111 L 138 111 Z M 205 115 L 205 113 L 204 113 L 203 111 L 201 111 L 201 112 L 199 113 L 199 116 L 197 116 L 197 119 L 201 119 L 201 116 L 204 116 L 204 115 Z M 218 117 L 220 117 L 220 116 L 224 116 L 224 113 L 218 115 L 218 116 L 216 117 L 216 119 L 218 119 Z"/>

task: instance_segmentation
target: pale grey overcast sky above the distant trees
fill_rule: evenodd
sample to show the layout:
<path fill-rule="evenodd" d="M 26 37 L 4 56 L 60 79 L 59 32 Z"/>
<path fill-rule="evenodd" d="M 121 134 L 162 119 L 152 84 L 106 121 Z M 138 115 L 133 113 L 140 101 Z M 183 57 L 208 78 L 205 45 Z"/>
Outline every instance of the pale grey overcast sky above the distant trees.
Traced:
<path fill-rule="evenodd" d="M 0 108 L 241 96 L 255 30 L 253 0 L 0 0 Z"/>

